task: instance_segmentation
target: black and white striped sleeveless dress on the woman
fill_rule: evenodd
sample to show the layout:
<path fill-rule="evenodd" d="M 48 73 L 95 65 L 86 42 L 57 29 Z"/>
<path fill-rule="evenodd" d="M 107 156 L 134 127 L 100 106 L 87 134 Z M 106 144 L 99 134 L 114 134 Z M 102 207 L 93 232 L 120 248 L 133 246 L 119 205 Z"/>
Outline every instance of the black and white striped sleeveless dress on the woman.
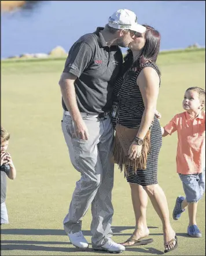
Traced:
<path fill-rule="evenodd" d="M 146 63 L 144 65 L 144 67 L 148 66 L 155 68 L 152 63 Z M 119 124 L 124 125 L 127 128 L 140 127 L 142 115 L 145 109 L 142 95 L 139 90 L 139 86 L 137 85 L 137 77 L 141 70 L 133 73 L 133 75 L 124 82 L 123 77 L 119 77 L 115 83 L 114 102 L 119 102 L 119 112 L 117 117 L 112 117 L 112 124 L 114 127 L 116 122 L 119 122 Z M 132 170 L 128 170 L 127 182 L 137 183 L 141 186 L 158 183 L 157 161 L 161 142 L 162 136 L 160 123 L 159 120 L 154 117 L 154 123 L 150 135 L 151 149 L 146 164 L 146 170 L 138 170 L 137 174 L 133 174 Z"/>

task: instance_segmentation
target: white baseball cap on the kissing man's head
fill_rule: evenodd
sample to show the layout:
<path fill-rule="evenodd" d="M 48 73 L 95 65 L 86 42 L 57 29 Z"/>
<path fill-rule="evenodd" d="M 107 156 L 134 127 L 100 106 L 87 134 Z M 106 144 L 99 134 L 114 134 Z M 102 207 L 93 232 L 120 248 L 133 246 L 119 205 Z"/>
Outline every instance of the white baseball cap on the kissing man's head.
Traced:
<path fill-rule="evenodd" d="M 108 25 L 113 28 L 129 29 L 138 33 L 145 33 L 146 27 L 137 23 L 137 16 L 127 9 L 120 9 L 109 17 Z"/>

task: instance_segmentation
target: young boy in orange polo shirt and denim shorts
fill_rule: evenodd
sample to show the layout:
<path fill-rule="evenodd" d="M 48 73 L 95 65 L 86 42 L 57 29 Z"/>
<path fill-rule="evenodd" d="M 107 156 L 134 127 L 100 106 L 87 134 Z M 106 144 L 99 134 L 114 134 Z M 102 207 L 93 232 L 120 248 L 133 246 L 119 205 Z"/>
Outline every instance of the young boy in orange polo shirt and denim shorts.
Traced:
<path fill-rule="evenodd" d="M 178 132 L 178 147 L 176 152 L 176 168 L 181 178 L 185 197 L 176 199 L 173 219 L 181 217 L 188 208 L 189 226 L 187 234 L 201 237 L 197 227 L 197 202 L 205 191 L 205 91 L 199 87 L 186 90 L 183 99 L 183 113 L 176 114 L 172 120 L 161 127 L 162 135 L 167 136 Z"/>

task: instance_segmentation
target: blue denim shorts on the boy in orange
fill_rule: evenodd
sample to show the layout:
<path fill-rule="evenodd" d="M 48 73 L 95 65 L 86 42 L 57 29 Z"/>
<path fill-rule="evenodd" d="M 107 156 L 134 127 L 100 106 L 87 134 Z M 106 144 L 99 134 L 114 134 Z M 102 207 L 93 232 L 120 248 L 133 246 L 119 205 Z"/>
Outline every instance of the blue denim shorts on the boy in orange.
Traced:
<path fill-rule="evenodd" d="M 205 191 L 205 168 L 200 174 L 179 174 L 187 203 L 195 203 L 201 199 Z"/>

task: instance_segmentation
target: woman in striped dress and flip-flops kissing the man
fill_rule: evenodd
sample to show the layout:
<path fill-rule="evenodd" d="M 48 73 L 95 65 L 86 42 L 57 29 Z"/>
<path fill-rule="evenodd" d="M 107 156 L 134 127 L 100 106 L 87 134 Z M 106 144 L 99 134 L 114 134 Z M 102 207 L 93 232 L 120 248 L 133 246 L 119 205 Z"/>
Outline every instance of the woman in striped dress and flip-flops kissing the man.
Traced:
<path fill-rule="evenodd" d="M 177 247 L 177 237 L 169 219 L 167 199 L 157 182 L 157 160 L 161 147 L 161 128 L 156 114 L 160 70 L 156 59 L 160 34 L 144 25 L 144 34 L 135 34 L 124 58 L 123 75 L 116 81 L 112 122 L 116 129 L 113 157 L 130 183 L 136 228 L 124 246 L 147 244 L 148 196 L 163 223 L 164 252 Z"/>

